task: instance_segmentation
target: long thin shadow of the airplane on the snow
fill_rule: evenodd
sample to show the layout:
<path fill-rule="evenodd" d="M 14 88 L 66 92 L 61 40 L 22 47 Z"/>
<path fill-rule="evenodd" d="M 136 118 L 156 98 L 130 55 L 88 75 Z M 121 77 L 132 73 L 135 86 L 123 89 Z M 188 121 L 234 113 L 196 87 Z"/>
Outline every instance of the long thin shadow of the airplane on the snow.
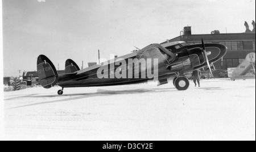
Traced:
<path fill-rule="evenodd" d="M 166 88 L 167 89 L 167 88 Z M 53 100 L 49 102 L 40 102 L 40 103 L 34 103 L 34 104 L 27 104 L 27 105 L 21 105 L 18 107 L 12 107 L 12 108 L 7 108 L 7 109 L 15 109 L 15 108 L 22 108 L 22 107 L 30 107 L 34 105 L 40 105 L 40 104 L 48 104 L 48 103 L 56 103 L 56 102 L 66 102 L 70 100 L 77 100 L 77 99 L 85 99 L 85 98 L 90 98 L 94 96 L 110 96 L 110 95 L 118 95 L 118 94 L 141 94 L 144 92 L 170 92 L 170 91 L 176 91 L 176 90 L 163 90 L 161 89 L 160 91 L 156 91 L 158 89 L 135 89 L 135 90 L 102 90 L 98 89 L 97 92 L 94 93 L 85 93 L 85 94 L 65 94 L 65 95 L 38 95 L 38 94 L 31 94 L 31 95 L 26 95 L 26 96 L 20 96 L 16 98 L 52 98 L 52 97 L 61 97 L 61 96 L 70 96 L 71 98 L 67 99 L 58 99 L 58 100 Z M 15 98 L 12 98 L 15 99 Z M 10 100 L 10 99 L 9 99 Z"/>

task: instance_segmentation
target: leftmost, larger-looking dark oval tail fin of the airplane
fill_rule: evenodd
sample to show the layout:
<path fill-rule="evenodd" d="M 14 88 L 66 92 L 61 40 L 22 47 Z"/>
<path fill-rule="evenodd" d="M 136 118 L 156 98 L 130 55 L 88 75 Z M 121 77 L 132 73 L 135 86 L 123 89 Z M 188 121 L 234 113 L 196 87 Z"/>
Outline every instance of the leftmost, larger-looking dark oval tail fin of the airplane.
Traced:
<path fill-rule="evenodd" d="M 57 70 L 52 62 L 44 55 L 38 56 L 37 62 L 39 82 L 44 88 L 51 88 L 59 80 Z"/>

